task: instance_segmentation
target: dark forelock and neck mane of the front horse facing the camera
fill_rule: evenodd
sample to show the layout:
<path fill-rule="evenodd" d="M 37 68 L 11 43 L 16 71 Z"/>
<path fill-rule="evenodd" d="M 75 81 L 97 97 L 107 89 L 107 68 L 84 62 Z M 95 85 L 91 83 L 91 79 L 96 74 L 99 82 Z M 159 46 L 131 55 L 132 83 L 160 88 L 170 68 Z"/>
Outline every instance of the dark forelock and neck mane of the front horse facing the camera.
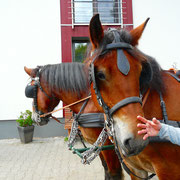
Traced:
<path fill-rule="evenodd" d="M 116 37 L 115 37 L 115 33 L 116 33 Z M 97 50 L 97 55 L 101 54 L 101 52 L 103 51 L 103 49 L 107 44 L 117 41 L 117 36 L 119 42 L 125 42 L 128 44 L 132 43 L 132 36 L 127 30 L 124 29 L 118 30 L 114 28 L 113 29 L 109 28 L 104 32 L 103 42 L 100 48 Z M 151 88 L 158 92 L 164 92 L 165 88 L 161 75 L 162 68 L 157 63 L 157 61 L 153 57 L 142 53 L 137 47 L 134 47 L 133 49 L 127 49 L 126 51 L 130 55 L 135 57 L 135 59 L 137 59 L 143 66 L 146 66 L 147 64 L 150 65 L 150 68 L 152 70 L 152 74 L 151 74 L 152 78 L 149 84 L 147 84 L 146 87 L 144 88 L 146 89 Z"/>

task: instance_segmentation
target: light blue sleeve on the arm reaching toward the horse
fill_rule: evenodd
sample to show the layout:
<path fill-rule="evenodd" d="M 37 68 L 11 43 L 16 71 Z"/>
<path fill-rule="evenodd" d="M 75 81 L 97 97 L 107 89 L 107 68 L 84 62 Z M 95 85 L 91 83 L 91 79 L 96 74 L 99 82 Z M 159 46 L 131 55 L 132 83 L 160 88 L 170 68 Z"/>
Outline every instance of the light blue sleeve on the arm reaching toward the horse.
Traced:
<path fill-rule="evenodd" d="M 158 136 L 180 146 L 180 128 L 176 128 L 167 124 L 161 124 L 162 127 Z"/>

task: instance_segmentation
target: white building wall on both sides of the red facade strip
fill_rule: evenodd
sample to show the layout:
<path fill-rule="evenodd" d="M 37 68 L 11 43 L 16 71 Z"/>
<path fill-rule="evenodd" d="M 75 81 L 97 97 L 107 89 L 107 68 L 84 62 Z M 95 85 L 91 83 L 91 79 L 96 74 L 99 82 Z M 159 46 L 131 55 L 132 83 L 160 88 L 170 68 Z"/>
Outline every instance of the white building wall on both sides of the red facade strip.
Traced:
<path fill-rule="evenodd" d="M 0 1 L 0 120 L 31 109 L 32 100 L 24 96 L 24 66 L 61 62 L 59 1 Z M 179 7 L 179 0 L 133 0 L 135 26 L 151 18 L 139 48 L 165 69 L 174 62 L 180 69 Z"/>

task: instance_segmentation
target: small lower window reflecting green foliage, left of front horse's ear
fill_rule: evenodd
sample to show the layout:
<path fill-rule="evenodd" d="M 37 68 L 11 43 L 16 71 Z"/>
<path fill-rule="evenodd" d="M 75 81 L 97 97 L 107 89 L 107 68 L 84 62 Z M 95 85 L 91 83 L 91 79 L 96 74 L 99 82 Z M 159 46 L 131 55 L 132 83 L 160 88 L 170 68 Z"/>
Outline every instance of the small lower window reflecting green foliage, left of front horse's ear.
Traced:
<path fill-rule="evenodd" d="M 86 58 L 86 50 L 88 40 L 73 40 L 72 41 L 72 60 L 73 62 L 83 62 Z"/>

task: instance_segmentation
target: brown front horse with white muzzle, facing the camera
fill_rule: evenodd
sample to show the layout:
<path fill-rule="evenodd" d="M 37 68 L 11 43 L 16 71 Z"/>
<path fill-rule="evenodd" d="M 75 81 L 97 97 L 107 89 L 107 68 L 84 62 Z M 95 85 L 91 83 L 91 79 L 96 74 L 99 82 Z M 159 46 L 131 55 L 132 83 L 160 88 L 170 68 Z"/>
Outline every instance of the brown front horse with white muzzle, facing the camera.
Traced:
<path fill-rule="evenodd" d="M 104 31 L 99 15 L 91 19 L 88 64 L 91 63 L 92 99 L 110 119 L 110 133 L 114 132 L 127 166 L 135 168 L 141 177 L 152 172 L 161 180 L 179 180 L 180 147 L 170 142 L 148 143 L 137 133 L 137 115 L 163 119 L 159 94 L 165 101 L 168 118 L 180 121 L 180 83 L 136 47 L 147 22 L 130 32 Z"/>

